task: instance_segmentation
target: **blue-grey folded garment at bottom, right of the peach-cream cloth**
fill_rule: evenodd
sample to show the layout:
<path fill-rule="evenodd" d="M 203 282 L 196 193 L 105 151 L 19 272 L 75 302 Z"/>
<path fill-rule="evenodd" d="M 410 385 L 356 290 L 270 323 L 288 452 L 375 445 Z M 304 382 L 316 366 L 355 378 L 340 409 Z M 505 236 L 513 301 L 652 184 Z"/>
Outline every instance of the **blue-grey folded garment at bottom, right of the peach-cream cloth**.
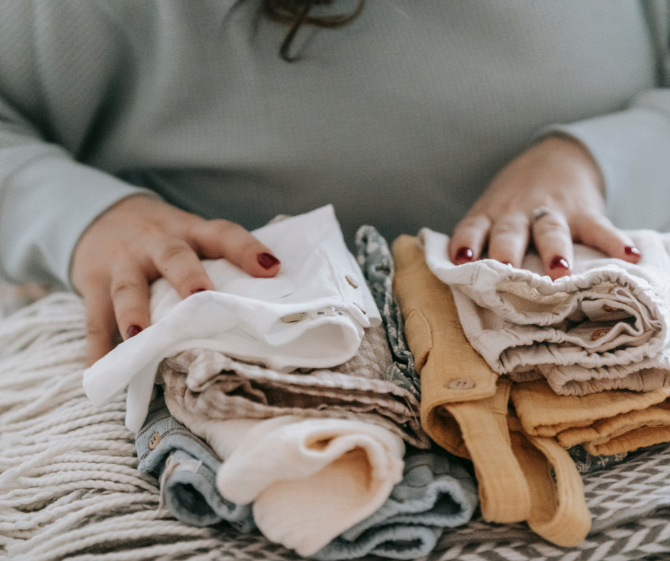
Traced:
<path fill-rule="evenodd" d="M 436 452 L 408 453 L 403 481 L 386 502 L 312 557 L 320 561 L 364 555 L 417 559 L 433 550 L 444 528 L 467 523 L 476 506 L 473 478 L 459 458 Z"/>

